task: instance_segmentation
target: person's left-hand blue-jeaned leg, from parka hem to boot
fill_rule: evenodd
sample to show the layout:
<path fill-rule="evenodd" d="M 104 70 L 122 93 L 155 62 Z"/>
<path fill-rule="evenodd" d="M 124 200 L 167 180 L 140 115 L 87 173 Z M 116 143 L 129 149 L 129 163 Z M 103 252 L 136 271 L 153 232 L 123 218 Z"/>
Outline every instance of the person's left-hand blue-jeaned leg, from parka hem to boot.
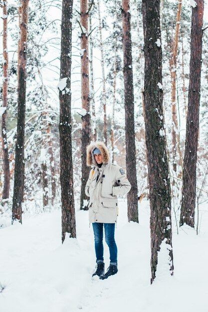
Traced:
<path fill-rule="evenodd" d="M 96 262 L 103 262 L 103 223 L 92 223 L 95 236 Z"/>

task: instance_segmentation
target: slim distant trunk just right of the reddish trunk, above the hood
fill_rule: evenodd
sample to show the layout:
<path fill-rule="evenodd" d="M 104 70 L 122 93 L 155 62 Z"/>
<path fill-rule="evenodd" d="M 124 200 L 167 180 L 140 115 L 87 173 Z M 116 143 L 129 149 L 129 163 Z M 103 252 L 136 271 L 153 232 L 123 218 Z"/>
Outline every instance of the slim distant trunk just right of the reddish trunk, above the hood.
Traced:
<path fill-rule="evenodd" d="M 89 14 L 89 26 L 92 28 L 91 14 Z M 94 96 L 94 77 L 93 77 L 93 40 L 89 37 L 90 41 L 90 110 L 92 112 L 92 138 L 95 142 L 97 140 L 97 129 L 96 129 L 96 114 L 95 114 L 95 96 Z"/>

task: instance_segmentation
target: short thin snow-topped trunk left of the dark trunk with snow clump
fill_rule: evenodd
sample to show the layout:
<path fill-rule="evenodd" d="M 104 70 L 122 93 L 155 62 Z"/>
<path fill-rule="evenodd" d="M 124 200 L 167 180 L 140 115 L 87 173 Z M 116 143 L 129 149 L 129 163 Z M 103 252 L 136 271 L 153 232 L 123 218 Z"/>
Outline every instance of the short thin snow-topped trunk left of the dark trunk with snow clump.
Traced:
<path fill-rule="evenodd" d="M 41 158 L 41 170 L 42 170 L 42 201 L 43 201 L 43 211 L 45 206 L 48 205 L 48 174 L 47 174 L 47 164 L 46 164 L 46 153 L 45 149 L 41 149 L 40 158 Z"/>

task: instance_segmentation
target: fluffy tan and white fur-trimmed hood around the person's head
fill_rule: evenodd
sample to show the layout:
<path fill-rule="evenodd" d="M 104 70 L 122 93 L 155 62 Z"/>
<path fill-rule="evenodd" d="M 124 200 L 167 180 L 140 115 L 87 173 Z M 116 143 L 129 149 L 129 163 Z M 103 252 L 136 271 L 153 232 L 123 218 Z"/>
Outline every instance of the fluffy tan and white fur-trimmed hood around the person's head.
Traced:
<path fill-rule="evenodd" d="M 95 160 L 95 156 L 93 155 L 93 151 L 95 148 L 98 148 L 103 156 L 103 163 L 109 163 L 110 162 L 110 156 L 107 147 L 103 142 L 96 141 L 92 142 L 90 145 L 87 146 L 87 165 L 92 166 L 96 165 L 97 162 Z"/>

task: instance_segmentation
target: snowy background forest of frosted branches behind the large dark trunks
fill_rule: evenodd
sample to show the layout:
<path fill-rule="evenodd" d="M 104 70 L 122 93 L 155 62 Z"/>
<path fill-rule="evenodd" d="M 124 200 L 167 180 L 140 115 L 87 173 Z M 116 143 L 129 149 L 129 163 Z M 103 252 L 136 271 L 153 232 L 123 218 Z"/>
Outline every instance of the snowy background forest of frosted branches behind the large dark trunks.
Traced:
<path fill-rule="evenodd" d="M 191 5 L 191 4 L 192 5 Z M 102 1 L 99 16 L 98 2 L 90 8 L 89 19 L 89 60 L 90 97 L 95 107 L 91 114 L 96 138 L 104 138 L 103 106 L 106 99 L 107 146 L 111 150 L 112 129 L 114 149 L 111 158 L 125 168 L 125 110 L 122 50 L 122 18 L 118 1 Z M 185 151 L 186 116 L 190 71 L 190 33 L 193 1 L 183 1 L 181 21 L 176 22 L 178 2 L 161 1 L 161 29 L 163 50 L 163 110 L 167 142 L 167 156 L 171 180 L 172 224 L 179 227 L 183 158 Z M 74 198 L 76 204 L 81 192 L 81 117 L 85 111 L 81 104 L 81 58 L 79 1 L 74 1 L 72 15 L 72 68 L 71 68 L 71 109 L 72 109 L 72 159 L 74 174 Z M 147 151 L 145 144 L 144 120 L 144 37 L 141 1 L 131 1 L 131 36 L 134 81 L 135 143 L 138 198 L 149 199 Z M 207 3 L 205 22 L 207 27 Z M 23 216 L 39 214 L 60 207 L 60 161 L 59 161 L 59 91 L 60 45 L 61 45 L 61 1 L 29 2 L 27 40 L 27 87 L 24 154 Z M 2 20 L 5 17 L 2 16 Z M 11 219 L 12 189 L 14 174 L 14 150 L 17 120 L 17 41 L 18 41 L 18 1 L 10 1 L 7 7 L 8 21 L 8 106 L 7 106 L 7 147 L 11 184 L 9 197 L 1 202 L 1 228 L 8 226 Z M 176 26 L 179 27 L 177 66 L 171 63 Z M 83 31 L 83 29 L 82 29 Z M 100 33 L 102 32 L 102 38 Z M 2 32 L 1 32 L 2 35 Z M 207 158 L 208 158 L 208 31 L 203 33 L 203 61 L 200 103 L 200 130 L 197 161 L 197 229 L 205 213 L 201 203 L 208 202 Z M 161 44 L 158 42 L 158 46 Z M 1 51 L 2 57 L 2 51 Z M 3 63 L 3 61 L 2 61 Z M 102 64 L 104 65 L 102 67 Z M 1 69 L 2 70 L 2 69 Z M 104 72 L 104 75 L 103 75 Z M 176 73 L 176 113 L 177 125 L 172 112 L 172 73 Z M 2 75 L 1 75 L 2 76 Z M 105 90 L 103 89 L 105 81 Z M 3 81 L 1 82 L 1 85 Z M 60 89 L 60 84 L 59 84 Z M 3 111 L 1 111 L 3 112 Z M 173 149 L 173 128 L 177 138 L 176 155 Z M 2 163 L 2 153 L 1 163 Z M 0 192 L 3 193 L 3 170 L 0 166 Z M 204 207 L 204 206 L 203 206 Z"/>

